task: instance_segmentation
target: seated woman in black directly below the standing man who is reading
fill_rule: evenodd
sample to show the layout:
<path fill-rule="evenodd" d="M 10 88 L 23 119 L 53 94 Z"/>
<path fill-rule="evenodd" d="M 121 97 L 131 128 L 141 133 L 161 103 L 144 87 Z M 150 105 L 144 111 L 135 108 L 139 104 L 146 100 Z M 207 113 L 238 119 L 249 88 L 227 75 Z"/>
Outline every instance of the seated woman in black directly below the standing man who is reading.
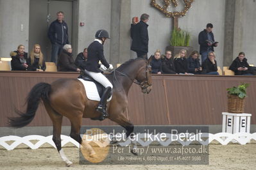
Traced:
<path fill-rule="evenodd" d="M 216 54 L 215 52 L 209 52 L 208 58 L 203 61 L 202 68 L 203 72 L 201 74 L 206 75 L 219 75 L 217 61 L 215 60 Z"/>

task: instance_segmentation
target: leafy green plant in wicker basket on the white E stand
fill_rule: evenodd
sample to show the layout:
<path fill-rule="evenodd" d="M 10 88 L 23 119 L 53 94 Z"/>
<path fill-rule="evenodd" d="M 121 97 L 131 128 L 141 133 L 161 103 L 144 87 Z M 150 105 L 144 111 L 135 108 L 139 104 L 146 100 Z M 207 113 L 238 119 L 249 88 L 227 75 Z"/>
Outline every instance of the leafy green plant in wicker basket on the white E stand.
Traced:
<path fill-rule="evenodd" d="M 243 113 L 246 96 L 246 88 L 249 84 L 242 82 L 239 86 L 228 88 L 228 112 Z"/>

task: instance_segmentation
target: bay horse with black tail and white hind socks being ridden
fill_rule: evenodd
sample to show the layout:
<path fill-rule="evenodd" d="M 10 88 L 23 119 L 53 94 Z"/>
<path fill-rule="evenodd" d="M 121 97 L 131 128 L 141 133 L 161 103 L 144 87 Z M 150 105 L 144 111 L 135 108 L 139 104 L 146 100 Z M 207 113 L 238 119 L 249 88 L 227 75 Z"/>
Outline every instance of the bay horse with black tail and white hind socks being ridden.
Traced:
<path fill-rule="evenodd" d="M 108 102 L 108 119 L 126 129 L 126 137 L 133 132 L 133 124 L 126 118 L 128 114 L 128 91 L 135 80 L 141 86 L 142 93 L 151 91 L 151 67 L 149 61 L 143 58 L 131 59 L 112 73 L 107 75 L 112 82 L 112 100 Z M 80 127 L 82 118 L 98 118 L 96 112 L 98 102 L 87 98 L 85 88 L 78 79 L 58 79 L 52 84 L 40 82 L 33 86 L 26 100 L 26 112 L 16 111 L 18 118 L 9 118 L 10 127 L 21 128 L 28 125 L 43 101 L 46 111 L 53 121 L 53 142 L 66 166 L 73 164 L 64 154 L 61 146 L 60 134 L 62 118 L 71 121 L 70 136 L 89 151 L 90 157 L 96 157 L 93 148 L 81 139 Z"/>

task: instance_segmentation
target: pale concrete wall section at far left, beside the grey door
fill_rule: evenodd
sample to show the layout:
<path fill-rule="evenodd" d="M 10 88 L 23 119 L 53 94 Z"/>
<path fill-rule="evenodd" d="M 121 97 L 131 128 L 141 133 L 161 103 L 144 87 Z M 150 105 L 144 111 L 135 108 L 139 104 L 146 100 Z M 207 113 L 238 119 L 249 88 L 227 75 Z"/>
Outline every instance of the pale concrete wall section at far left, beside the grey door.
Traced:
<path fill-rule="evenodd" d="M 29 12 L 30 0 L 0 0 L 0 57 L 8 57 L 19 44 L 28 52 Z"/>

